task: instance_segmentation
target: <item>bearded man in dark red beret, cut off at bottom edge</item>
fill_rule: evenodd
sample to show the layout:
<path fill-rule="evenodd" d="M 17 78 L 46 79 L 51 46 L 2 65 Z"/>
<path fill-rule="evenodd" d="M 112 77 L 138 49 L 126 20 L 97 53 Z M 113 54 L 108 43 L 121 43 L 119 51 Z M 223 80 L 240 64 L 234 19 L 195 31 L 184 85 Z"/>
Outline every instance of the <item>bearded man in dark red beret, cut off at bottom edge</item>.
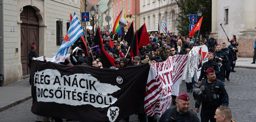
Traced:
<path fill-rule="evenodd" d="M 159 122 L 167 121 L 192 121 L 197 122 L 199 118 L 196 112 L 189 110 L 189 96 L 184 92 L 177 97 L 176 107 L 168 108 L 160 117 Z"/>

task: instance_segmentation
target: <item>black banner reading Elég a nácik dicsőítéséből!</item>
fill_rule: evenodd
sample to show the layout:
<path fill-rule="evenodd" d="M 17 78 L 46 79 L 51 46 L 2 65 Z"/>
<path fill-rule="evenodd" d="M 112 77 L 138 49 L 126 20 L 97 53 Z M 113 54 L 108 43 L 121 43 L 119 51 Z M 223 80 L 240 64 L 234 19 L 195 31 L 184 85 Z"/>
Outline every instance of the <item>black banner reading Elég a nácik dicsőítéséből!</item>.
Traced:
<path fill-rule="evenodd" d="M 118 121 L 144 112 L 150 66 L 119 70 L 32 61 L 30 82 L 36 115 L 79 121 Z"/>

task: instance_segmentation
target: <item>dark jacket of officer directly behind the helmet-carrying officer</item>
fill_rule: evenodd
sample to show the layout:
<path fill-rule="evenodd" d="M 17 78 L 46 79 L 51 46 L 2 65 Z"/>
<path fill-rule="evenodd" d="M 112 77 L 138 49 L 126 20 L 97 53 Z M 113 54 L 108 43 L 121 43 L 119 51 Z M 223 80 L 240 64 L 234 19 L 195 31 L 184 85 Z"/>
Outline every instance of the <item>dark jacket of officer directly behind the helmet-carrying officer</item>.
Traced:
<path fill-rule="evenodd" d="M 202 81 L 203 78 L 206 78 L 206 70 L 208 68 L 213 68 L 216 74 L 220 73 L 220 68 L 218 68 L 218 63 L 212 60 L 208 60 L 203 64 L 201 68 L 201 73 L 198 81 Z"/>

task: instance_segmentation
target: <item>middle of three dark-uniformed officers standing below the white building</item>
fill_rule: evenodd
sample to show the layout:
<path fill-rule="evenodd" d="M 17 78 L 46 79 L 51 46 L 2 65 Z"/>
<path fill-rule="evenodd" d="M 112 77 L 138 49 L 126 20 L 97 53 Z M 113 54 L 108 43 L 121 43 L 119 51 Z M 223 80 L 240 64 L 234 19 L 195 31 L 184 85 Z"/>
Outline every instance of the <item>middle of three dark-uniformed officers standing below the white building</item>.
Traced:
<path fill-rule="evenodd" d="M 234 64 L 233 53 L 228 48 L 226 48 L 226 43 L 225 42 L 222 43 L 221 51 L 225 52 L 226 56 L 228 57 L 228 61 L 225 62 L 223 65 L 224 65 L 224 76 L 228 81 L 230 81 L 229 74 L 230 74 L 230 71 L 231 71 L 231 64 Z"/>

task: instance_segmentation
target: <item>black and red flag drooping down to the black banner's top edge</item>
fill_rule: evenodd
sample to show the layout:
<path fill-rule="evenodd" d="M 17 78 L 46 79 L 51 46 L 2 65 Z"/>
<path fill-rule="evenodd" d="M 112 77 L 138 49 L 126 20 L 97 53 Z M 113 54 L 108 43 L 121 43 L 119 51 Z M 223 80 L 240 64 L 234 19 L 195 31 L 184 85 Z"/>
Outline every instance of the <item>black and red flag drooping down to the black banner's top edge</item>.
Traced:
<path fill-rule="evenodd" d="M 99 45 L 99 47 L 101 49 L 101 63 L 103 65 L 103 67 L 110 68 L 111 66 L 115 66 L 115 63 L 114 63 L 115 59 L 112 56 L 110 56 L 110 54 L 108 52 L 106 52 L 104 49 L 99 28 L 96 31 L 94 43 L 96 45 Z"/>

